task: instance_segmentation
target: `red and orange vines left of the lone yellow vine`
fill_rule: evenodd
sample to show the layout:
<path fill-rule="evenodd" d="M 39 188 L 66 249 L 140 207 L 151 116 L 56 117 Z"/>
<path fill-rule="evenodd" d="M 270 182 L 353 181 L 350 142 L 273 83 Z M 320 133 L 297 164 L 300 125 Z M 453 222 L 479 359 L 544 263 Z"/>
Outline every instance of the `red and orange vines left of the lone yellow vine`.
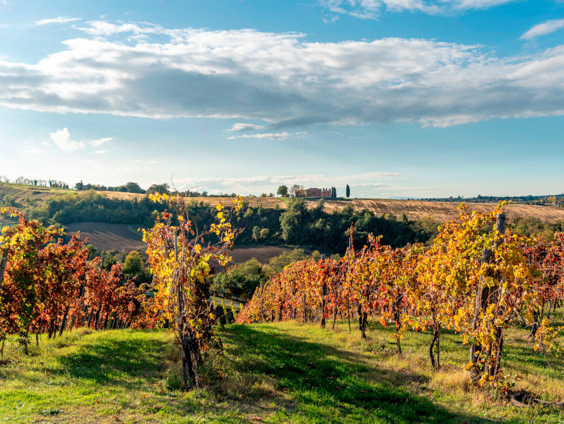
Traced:
<path fill-rule="evenodd" d="M 152 325 L 143 313 L 143 289 L 124 281 L 119 265 L 105 271 L 100 259 L 89 261 L 79 235 L 64 243 L 57 228 L 45 228 L 15 209 L 0 213 L 18 218 L 18 225 L 0 236 L 1 341 L 16 334 L 27 351 L 33 333 L 52 337 L 78 326 Z"/>

